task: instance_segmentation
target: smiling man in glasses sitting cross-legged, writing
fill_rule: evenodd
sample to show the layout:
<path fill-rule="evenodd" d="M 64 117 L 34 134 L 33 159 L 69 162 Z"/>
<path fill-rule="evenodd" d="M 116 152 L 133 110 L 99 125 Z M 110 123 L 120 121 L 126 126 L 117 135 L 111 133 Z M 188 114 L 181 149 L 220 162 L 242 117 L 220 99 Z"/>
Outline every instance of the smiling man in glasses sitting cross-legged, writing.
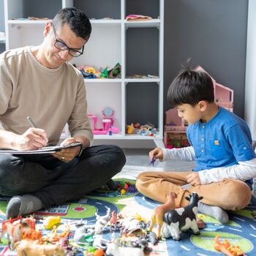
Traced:
<path fill-rule="evenodd" d="M 43 31 L 41 45 L 0 55 L 0 147 L 34 150 L 59 143 L 69 124 L 80 142 L 54 154 L 0 154 L 0 194 L 12 196 L 7 218 L 60 205 L 111 184 L 126 161 L 116 146 L 92 146 L 83 75 L 68 63 L 83 54 L 91 23 L 76 8 L 60 10 Z M 37 127 L 30 127 L 30 116 Z"/>

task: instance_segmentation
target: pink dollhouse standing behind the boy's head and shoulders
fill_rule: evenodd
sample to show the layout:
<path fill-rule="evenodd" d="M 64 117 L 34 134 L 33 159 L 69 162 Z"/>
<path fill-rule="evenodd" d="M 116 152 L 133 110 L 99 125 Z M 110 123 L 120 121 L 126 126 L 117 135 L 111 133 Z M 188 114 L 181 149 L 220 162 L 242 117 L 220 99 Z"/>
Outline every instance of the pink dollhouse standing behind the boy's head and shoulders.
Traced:
<path fill-rule="evenodd" d="M 203 67 L 200 66 L 197 66 L 195 69 L 206 72 Z M 220 83 L 217 83 L 216 80 L 214 80 L 212 77 L 211 80 L 214 83 L 214 99 L 217 105 L 230 110 L 230 112 L 233 112 L 234 91 Z M 178 117 L 178 111 L 173 108 L 167 110 L 165 115 L 165 148 L 181 148 L 184 146 L 189 146 L 186 135 L 187 124 L 183 118 Z"/>

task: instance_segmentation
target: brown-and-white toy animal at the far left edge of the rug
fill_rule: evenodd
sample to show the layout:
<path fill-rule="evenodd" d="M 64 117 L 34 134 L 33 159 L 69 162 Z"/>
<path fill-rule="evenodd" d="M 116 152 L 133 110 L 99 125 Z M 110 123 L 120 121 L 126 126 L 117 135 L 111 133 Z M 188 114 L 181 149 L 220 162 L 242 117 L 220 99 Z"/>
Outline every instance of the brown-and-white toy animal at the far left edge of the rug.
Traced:
<path fill-rule="evenodd" d="M 7 240 L 8 240 L 8 245 L 10 249 L 13 249 L 14 243 L 16 241 L 20 241 L 21 240 L 21 234 L 22 234 L 22 230 L 23 228 L 30 228 L 29 224 L 27 224 L 26 222 L 9 222 L 9 221 L 5 221 L 2 222 L 1 225 L 1 235 L 0 235 L 0 242 L 1 242 L 1 238 L 4 236 L 5 233 L 7 233 Z M 12 239 L 10 239 L 12 238 Z"/>

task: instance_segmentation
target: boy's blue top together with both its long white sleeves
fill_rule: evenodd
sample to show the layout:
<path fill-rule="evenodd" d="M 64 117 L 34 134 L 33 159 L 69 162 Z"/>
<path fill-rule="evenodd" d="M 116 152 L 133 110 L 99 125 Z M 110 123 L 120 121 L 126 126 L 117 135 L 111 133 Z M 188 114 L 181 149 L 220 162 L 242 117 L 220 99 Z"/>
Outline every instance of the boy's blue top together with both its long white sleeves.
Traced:
<path fill-rule="evenodd" d="M 211 120 L 187 128 L 191 147 L 167 150 L 164 159 L 195 160 L 202 184 L 236 178 L 252 187 L 256 177 L 256 154 L 245 121 L 224 108 Z"/>

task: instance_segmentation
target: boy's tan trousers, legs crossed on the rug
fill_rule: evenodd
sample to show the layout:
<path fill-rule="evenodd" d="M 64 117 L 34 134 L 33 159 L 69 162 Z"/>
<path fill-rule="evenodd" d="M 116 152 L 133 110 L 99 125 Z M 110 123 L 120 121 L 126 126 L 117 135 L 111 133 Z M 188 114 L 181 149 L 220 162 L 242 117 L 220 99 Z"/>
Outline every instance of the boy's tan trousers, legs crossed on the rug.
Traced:
<path fill-rule="evenodd" d="M 252 197 L 249 186 L 243 181 L 224 178 L 223 181 L 207 185 L 191 186 L 184 189 L 187 184 L 189 172 L 145 172 L 140 173 L 136 181 L 139 192 L 158 202 L 165 203 L 168 192 L 177 194 L 176 207 L 187 206 L 185 197 L 191 192 L 203 196 L 201 202 L 211 206 L 219 206 L 225 210 L 236 211 L 246 207 Z"/>

